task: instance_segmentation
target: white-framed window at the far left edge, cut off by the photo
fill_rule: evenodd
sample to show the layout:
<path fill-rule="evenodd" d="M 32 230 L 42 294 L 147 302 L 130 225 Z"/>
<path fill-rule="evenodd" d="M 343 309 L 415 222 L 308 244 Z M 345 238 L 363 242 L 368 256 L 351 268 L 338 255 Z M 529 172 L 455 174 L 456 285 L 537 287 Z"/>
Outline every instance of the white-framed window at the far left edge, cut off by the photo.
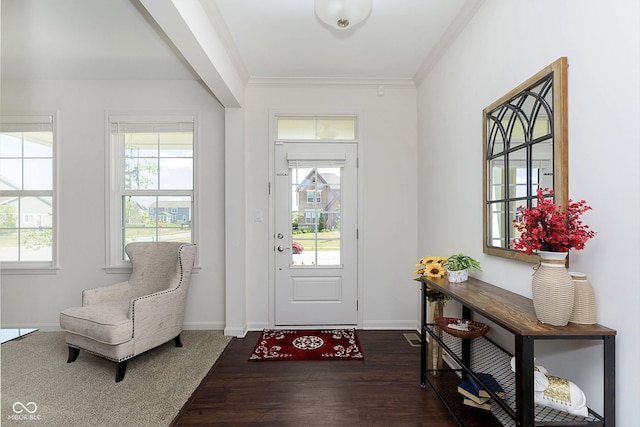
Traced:
<path fill-rule="evenodd" d="M 0 116 L 0 262 L 55 265 L 55 116 Z"/>

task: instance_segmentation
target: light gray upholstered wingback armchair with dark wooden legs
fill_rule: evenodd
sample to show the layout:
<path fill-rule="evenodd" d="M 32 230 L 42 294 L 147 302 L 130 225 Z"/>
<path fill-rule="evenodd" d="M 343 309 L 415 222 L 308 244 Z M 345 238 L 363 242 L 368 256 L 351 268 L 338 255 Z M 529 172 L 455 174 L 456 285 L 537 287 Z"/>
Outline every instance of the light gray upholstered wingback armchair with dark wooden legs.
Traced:
<path fill-rule="evenodd" d="M 60 313 L 60 326 L 69 346 L 67 363 L 80 349 L 118 363 L 122 381 L 127 360 L 174 340 L 182 347 L 187 289 L 196 245 L 135 242 L 125 248 L 133 270 L 129 280 L 84 290 L 82 307 Z"/>

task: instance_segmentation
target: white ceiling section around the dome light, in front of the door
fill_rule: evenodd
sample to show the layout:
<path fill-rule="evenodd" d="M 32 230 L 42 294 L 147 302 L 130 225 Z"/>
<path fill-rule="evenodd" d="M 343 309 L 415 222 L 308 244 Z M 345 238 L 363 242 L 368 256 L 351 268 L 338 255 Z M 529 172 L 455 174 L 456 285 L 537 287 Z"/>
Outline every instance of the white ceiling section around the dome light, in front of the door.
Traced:
<path fill-rule="evenodd" d="M 313 0 L 217 4 L 252 77 L 412 78 L 465 0 L 373 0 L 365 22 L 335 30 Z"/>

